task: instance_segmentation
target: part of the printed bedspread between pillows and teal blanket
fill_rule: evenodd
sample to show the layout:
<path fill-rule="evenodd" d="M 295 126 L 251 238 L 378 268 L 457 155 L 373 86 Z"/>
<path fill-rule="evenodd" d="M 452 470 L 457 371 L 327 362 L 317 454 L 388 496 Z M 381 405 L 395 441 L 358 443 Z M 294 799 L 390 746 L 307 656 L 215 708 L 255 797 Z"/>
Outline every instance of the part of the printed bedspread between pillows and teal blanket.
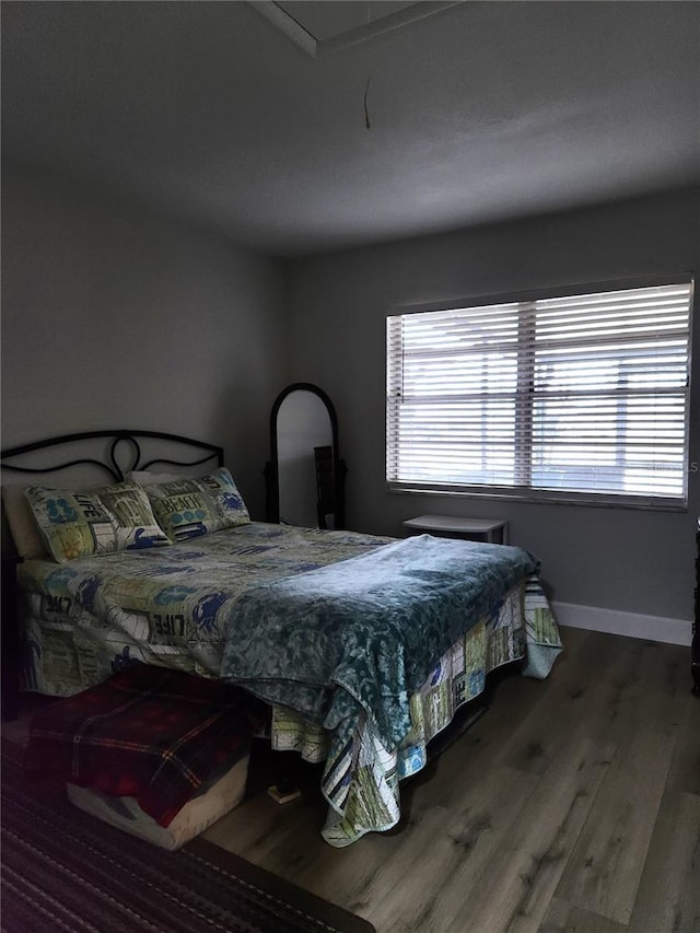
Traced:
<path fill-rule="evenodd" d="M 23 687 L 70 696 L 135 661 L 218 677 L 228 618 L 248 587 L 393 540 L 254 523 L 167 548 L 25 561 Z"/>

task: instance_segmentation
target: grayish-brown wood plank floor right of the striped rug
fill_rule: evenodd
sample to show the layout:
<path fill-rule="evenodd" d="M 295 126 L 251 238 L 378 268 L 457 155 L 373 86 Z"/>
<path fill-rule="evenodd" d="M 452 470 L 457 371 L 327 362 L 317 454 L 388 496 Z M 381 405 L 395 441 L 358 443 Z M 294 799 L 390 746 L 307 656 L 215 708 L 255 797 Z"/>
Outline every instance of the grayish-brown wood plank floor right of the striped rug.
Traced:
<path fill-rule="evenodd" d="M 377 933 L 700 933 L 700 698 L 689 650 L 564 629 L 546 681 L 405 788 L 406 826 L 323 841 L 315 795 L 261 794 L 206 838 Z"/>

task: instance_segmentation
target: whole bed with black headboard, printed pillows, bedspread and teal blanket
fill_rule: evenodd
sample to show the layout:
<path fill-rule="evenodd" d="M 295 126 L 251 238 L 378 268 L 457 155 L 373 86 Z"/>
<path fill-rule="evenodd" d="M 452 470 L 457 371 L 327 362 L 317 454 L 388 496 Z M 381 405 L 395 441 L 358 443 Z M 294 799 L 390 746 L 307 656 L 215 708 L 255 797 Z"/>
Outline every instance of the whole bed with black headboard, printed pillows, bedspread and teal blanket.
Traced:
<path fill-rule="evenodd" d="M 80 456 L 56 459 L 67 445 Z M 108 486 L 49 483 L 46 455 Z M 544 678 L 561 651 L 527 551 L 254 522 L 210 444 L 91 432 L 4 451 L 2 467 L 22 689 L 70 696 L 138 663 L 245 688 L 271 709 L 275 749 L 323 763 L 335 847 L 398 823 L 400 782 L 490 672 Z"/>

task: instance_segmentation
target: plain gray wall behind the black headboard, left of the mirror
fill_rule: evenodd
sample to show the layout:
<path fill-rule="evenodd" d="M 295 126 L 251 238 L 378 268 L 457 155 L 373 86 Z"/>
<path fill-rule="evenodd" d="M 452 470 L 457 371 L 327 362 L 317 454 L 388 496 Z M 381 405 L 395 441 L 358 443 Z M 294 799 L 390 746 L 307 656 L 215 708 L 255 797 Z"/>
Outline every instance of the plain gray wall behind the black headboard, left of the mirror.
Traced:
<path fill-rule="evenodd" d="M 105 428 L 212 441 L 261 517 L 282 284 L 222 237 L 3 166 L 2 445 Z"/>

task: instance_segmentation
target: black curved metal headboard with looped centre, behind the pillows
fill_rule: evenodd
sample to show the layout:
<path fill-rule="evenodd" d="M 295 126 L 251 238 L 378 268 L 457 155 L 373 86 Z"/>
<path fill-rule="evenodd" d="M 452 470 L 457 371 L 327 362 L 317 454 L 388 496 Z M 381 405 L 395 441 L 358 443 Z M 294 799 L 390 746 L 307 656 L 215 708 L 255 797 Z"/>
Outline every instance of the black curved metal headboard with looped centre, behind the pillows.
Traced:
<path fill-rule="evenodd" d="M 102 445 L 100 442 L 103 442 Z M 94 442 L 96 453 L 85 453 L 88 442 Z M 80 450 L 81 454 L 75 456 L 70 453 L 70 445 Z M 145 456 L 141 446 L 152 450 Z M 91 450 L 92 450 L 91 446 Z M 163 448 L 162 455 L 155 450 Z M 51 458 L 47 455 L 47 463 L 37 462 L 37 451 L 49 451 L 56 456 L 61 456 L 60 448 L 65 447 L 62 456 L 67 459 Z M 178 453 L 182 451 L 182 455 Z M 126 453 L 125 453 L 126 452 Z M 130 452 L 130 456 L 127 454 Z M 25 458 L 25 463 L 22 459 Z M 0 451 L 0 468 L 18 474 L 46 474 L 56 470 L 78 466 L 91 466 L 106 470 L 109 476 L 120 481 L 127 473 L 136 469 L 150 469 L 153 466 L 194 467 L 200 464 L 215 460 L 217 466 L 223 466 L 223 447 L 209 444 L 206 441 L 196 441 L 180 434 L 166 434 L 162 431 L 85 431 L 80 434 L 62 434 L 57 438 L 48 438 L 35 441 L 31 444 L 21 444 L 18 447 L 7 447 Z"/>

